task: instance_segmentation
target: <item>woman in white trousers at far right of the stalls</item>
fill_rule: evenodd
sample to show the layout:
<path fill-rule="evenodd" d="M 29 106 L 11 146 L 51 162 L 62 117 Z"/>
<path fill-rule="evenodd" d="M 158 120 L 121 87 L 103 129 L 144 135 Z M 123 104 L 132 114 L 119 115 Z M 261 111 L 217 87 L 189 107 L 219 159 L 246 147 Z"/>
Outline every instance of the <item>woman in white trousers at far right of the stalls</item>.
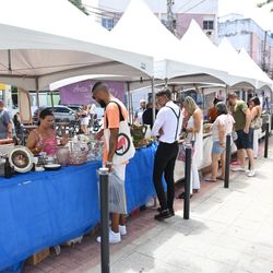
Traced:
<path fill-rule="evenodd" d="M 259 97 L 252 97 L 249 100 L 249 108 L 251 110 L 251 124 L 253 129 L 253 156 L 258 158 L 259 156 L 259 138 L 262 132 L 262 107 Z"/>

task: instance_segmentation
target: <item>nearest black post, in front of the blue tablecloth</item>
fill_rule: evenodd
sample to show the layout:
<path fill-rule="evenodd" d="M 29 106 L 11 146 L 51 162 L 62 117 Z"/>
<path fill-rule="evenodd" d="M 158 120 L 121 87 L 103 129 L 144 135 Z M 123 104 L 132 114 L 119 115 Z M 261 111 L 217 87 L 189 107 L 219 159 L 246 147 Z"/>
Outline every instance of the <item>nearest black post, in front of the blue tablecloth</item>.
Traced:
<path fill-rule="evenodd" d="M 108 168 L 100 168 L 99 171 L 99 198 L 100 198 L 100 264 L 102 273 L 109 273 L 109 204 L 108 204 Z"/>

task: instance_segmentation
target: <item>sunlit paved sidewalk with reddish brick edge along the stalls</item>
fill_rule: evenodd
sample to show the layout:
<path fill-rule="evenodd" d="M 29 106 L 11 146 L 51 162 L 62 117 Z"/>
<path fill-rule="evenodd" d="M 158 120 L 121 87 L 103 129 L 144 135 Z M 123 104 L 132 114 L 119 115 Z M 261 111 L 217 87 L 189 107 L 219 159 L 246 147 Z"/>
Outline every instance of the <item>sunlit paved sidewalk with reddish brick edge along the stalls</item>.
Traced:
<path fill-rule="evenodd" d="M 155 209 L 129 219 L 129 234 L 110 247 L 111 273 L 270 273 L 273 272 L 273 145 L 257 162 L 257 176 L 233 173 L 223 182 L 202 183 L 191 200 L 191 218 L 156 222 Z M 95 237 L 62 250 L 25 272 L 100 272 Z"/>

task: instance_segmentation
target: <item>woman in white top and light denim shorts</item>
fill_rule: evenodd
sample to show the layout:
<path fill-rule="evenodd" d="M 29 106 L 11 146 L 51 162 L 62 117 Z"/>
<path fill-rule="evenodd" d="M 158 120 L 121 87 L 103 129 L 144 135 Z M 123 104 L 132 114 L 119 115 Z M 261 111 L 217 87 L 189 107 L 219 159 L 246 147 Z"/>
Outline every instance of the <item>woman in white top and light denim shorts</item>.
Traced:
<path fill-rule="evenodd" d="M 217 118 L 212 126 L 212 174 L 205 181 L 216 182 L 216 179 L 225 179 L 225 162 L 226 162 L 226 135 L 232 134 L 235 120 L 228 114 L 227 106 L 224 103 L 216 104 Z M 222 174 L 218 174 L 218 161 L 221 159 Z"/>

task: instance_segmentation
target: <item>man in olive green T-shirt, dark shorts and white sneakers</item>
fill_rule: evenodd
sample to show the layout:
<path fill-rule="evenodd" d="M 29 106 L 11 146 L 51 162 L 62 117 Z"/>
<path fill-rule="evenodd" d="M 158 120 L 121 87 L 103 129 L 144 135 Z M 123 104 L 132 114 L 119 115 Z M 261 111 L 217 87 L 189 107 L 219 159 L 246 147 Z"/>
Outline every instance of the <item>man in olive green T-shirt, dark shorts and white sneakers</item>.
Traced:
<path fill-rule="evenodd" d="M 237 146 L 237 157 L 240 163 L 239 168 L 233 169 L 234 171 L 246 171 L 246 152 L 250 163 L 249 177 L 256 175 L 254 171 L 254 158 L 253 158 L 253 147 L 252 147 L 252 129 L 251 123 L 251 112 L 248 105 L 244 100 L 239 100 L 235 93 L 228 94 L 228 103 L 232 107 L 232 114 L 235 119 L 235 130 L 237 132 L 238 139 L 236 140 Z"/>

